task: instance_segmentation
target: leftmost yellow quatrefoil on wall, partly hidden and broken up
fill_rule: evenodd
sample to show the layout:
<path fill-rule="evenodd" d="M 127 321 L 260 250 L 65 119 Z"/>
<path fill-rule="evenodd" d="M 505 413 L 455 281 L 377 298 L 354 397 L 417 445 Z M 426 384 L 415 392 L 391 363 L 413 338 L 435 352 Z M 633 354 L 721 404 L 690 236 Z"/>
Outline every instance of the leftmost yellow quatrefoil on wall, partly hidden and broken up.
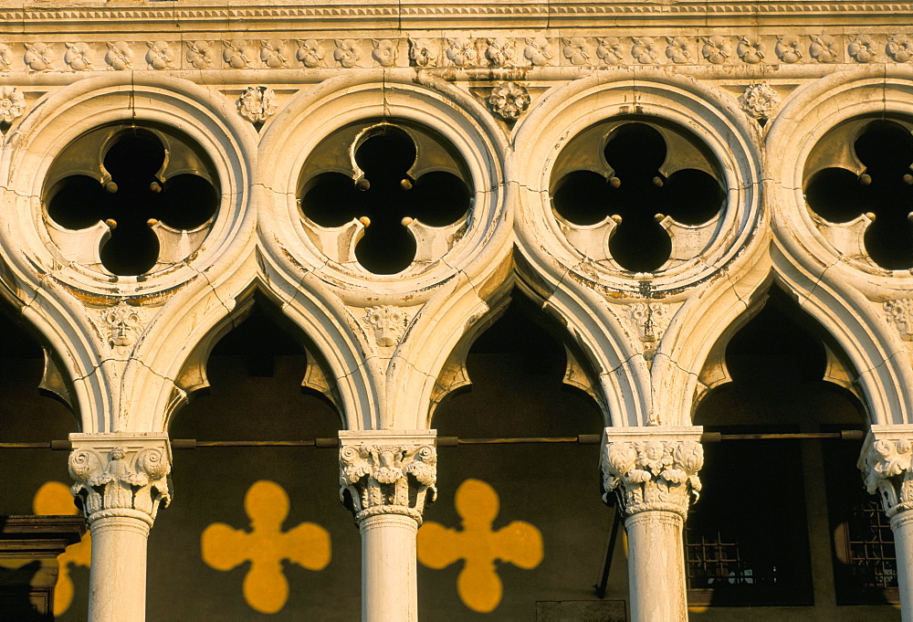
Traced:
<path fill-rule="evenodd" d="M 32 499 L 32 511 L 40 516 L 75 516 L 79 514 L 73 495 L 66 484 L 59 481 L 46 481 Z M 29 560 L 0 560 L 6 568 L 18 568 Z M 47 560 L 45 560 L 47 562 Z M 89 532 L 82 535 L 78 543 L 70 544 L 67 550 L 57 558 L 58 582 L 54 585 L 54 615 L 62 616 L 73 603 L 73 580 L 69 576 L 69 566 L 89 567 L 92 563 L 92 537 Z"/>

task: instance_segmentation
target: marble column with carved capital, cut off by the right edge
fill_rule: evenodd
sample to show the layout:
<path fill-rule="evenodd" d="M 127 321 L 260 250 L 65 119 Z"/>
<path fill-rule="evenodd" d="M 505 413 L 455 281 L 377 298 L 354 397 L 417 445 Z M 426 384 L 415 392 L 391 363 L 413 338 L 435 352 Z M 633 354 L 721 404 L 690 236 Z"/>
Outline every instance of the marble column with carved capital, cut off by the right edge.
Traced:
<path fill-rule="evenodd" d="M 913 426 L 872 426 L 862 454 L 866 489 L 881 496 L 897 551 L 900 617 L 913 622 Z"/>

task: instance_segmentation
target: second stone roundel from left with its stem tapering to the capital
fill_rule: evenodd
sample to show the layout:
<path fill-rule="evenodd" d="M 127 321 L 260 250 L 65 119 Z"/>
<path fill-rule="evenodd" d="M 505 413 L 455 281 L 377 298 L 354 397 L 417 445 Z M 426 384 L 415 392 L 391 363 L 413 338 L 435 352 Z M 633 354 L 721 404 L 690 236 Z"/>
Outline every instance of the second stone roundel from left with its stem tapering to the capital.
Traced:
<path fill-rule="evenodd" d="M 476 290 L 509 257 L 503 133 L 442 79 L 367 71 L 292 98 L 260 157 L 275 164 L 258 223 L 264 281 L 290 317 L 320 308 L 341 335 L 337 381 L 362 387 L 353 429 L 421 427 L 436 374 L 425 359 L 484 309 Z M 387 222 L 402 206 L 415 213 Z"/>

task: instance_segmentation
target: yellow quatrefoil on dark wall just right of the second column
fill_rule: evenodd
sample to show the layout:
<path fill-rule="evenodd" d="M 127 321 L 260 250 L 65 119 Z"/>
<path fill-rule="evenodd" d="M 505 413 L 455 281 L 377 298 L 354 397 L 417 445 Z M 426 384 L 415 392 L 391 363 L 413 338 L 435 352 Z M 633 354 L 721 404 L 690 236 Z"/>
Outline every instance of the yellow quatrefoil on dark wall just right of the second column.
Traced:
<path fill-rule="evenodd" d="M 482 480 L 460 484 L 454 504 L 463 530 L 425 522 L 418 531 L 418 559 L 436 570 L 466 560 L 456 579 L 456 591 L 467 607 L 487 614 L 500 604 L 503 594 L 495 561 L 527 570 L 535 568 L 542 561 L 542 534 L 522 521 L 492 531 L 500 502 L 498 493 Z"/>

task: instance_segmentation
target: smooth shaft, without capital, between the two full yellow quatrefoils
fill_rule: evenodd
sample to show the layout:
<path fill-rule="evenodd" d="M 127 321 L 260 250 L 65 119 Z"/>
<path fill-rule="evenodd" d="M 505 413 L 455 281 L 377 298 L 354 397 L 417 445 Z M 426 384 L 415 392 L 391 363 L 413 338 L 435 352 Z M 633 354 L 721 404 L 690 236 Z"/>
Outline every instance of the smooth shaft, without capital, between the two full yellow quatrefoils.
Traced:
<path fill-rule="evenodd" d="M 362 622 L 415 622 L 418 587 L 415 519 L 379 514 L 362 520 Z"/>

